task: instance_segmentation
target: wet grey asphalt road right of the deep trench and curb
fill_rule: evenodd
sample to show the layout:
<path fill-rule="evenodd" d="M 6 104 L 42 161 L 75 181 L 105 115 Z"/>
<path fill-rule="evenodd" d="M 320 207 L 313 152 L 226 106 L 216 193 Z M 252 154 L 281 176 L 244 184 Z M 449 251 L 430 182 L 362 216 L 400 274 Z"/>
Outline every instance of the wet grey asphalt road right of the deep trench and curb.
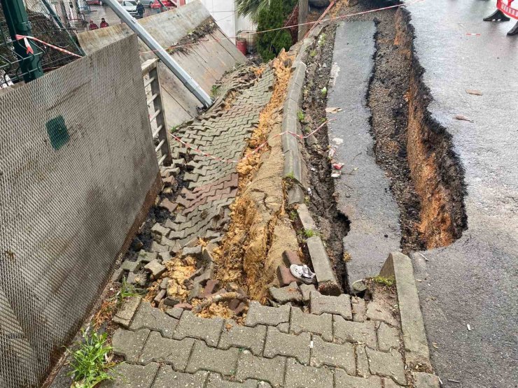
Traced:
<path fill-rule="evenodd" d="M 443 387 L 518 387 L 518 36 L 505 35 L 515 20 L 482 21 L 495 3 L 409 6 L 416 55 L 433 97 L 429 110 L 453 136 L 468 191 L 463 236 L 413 255 Z"/>

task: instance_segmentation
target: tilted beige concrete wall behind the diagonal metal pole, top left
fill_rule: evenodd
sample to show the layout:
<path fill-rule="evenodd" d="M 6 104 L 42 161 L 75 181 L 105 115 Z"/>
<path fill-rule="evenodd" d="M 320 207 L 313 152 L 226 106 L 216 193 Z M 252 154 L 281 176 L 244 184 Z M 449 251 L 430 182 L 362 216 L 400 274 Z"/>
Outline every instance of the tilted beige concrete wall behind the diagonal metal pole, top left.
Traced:
<path fill-rule="evenodd" d="M 139 20 L 139 23 L 162 47 L 180 46 L 169 50 L 170 54 L 208 94 L 211 94 L 212 86 L 225 71 L 246 60 L 218 28 L 200 0 L 145 17 Z M 132 30 L 126 24 L 116 24 L 104 29 L 83 32 L 78 34 L 78 39 L 83 50 L 89 55 L 132 34 Z M 155 57 L 143 42 L 139 41 L 139 45 L 142 62 Z M 167 124 L 174 127 L 193 120 L 198 108 L 202 107 L 201 103 L 164 64 L 160 63 L 159 66 L 163 90 L 162 103 Z"/>

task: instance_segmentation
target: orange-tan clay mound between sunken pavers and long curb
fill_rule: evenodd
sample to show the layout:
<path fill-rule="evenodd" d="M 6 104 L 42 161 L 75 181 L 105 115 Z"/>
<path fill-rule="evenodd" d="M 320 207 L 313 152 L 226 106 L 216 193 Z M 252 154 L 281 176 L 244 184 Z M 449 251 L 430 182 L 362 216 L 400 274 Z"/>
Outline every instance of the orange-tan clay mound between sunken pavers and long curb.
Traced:
<path fill-rule="evenodd" d="M 245 155 L 237 166 L 239 192 L 231 206 L 231 223 L 221 247 L 214 250 L 216 278 L 235 282 L 251 299 L 267 303 L 267 287 L 276 280 L 283 250 L 297 248 L 295 232 L 286 217 L 283 196 L 281 141 L 282 106 L 290 79 L 286 53 L 274 59 L 276 80 L 269 103 L 260 113 Z M 270 138 L 267 147 L 252 151 Z M 288 227 L 287 227 L 288 226 Z"/>

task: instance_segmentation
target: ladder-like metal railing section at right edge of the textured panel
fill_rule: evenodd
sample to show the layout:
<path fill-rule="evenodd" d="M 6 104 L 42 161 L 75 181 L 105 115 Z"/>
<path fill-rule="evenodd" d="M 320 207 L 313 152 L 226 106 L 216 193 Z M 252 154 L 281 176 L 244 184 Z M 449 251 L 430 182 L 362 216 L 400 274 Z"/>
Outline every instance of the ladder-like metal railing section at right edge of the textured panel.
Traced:
<path fill-rule="evenodd" d="M 142 66 L 144 88 L 148 96 L 147 104 L 149 120 L 153 131 L 153 142 L 157 152 L 158 166 L 169 166 L 172 163 L 171 147 L 167 137 L 164 106 L 160 94 L 160 79 L 158 78 L 158 60 L 148 59 Z"/>

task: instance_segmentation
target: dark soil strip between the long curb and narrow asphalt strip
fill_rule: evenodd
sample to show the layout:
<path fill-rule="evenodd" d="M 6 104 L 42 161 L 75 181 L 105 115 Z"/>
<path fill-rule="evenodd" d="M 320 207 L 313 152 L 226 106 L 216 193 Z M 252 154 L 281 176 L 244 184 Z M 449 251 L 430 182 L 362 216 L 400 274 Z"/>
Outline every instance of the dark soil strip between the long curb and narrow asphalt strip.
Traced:
<path fill-rule="evenodd" d="M 332 68 L 332 51 L 335 47 L 335 25 L 326 28 L 319 36 L 318 43 L 309 50 L 307 73 L 302 101 L 302 131 L 309 133 L 326 119 L 326 93 Z M 331 164 L 328 159 L 328 127 L 306 139 L 304 155 L 308 168 L 310 190 L 306 203 L 325 241 L 327 252 L 335 265 L 339 279 L 346 289 L 345 260 L 342 238 L 349 231 L 349 220 L 337 210 L 334 196 L 335 182 L 331 178 Z"/>

